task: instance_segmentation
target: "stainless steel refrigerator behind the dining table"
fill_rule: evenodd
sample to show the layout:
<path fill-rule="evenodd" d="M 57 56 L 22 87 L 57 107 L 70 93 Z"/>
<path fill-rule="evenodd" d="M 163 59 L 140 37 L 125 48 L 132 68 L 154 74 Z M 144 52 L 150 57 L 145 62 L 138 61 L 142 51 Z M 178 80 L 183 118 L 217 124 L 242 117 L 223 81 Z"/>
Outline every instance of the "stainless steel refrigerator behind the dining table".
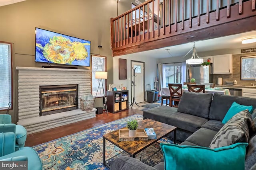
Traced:
<path fill-rule="evenodd" d="M 196 79 L 196 84 L 212 83 L 213 74 L 212 66 L 196 66 L 187 68 L 187 82 L 191 82 L 191 78 Z"/>

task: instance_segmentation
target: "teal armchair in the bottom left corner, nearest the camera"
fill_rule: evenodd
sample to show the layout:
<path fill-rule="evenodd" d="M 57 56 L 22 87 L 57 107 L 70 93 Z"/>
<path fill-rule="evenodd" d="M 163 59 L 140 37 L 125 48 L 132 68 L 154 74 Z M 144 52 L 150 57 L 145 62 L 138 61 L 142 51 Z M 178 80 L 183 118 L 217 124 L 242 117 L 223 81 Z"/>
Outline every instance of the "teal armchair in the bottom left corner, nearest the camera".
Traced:
<path fill-rule="evenodd" d="M 42 162 L 34 149 L 22 147 L 15 151 L 16 135 L 0 133 L 0 161 L 28 161 L 28 170 L 42 170 Z"/>

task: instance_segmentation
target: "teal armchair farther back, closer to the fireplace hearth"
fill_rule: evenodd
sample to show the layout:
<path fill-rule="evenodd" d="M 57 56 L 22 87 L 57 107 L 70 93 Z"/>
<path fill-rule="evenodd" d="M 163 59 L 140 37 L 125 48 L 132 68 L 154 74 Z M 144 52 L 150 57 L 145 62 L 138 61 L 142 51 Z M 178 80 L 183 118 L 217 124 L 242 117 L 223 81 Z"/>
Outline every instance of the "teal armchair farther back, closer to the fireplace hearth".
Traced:
<path fill-rule="evenodd" d="M 25 146 L 27 131 L 21 125 L 12 123 L 11 115 L 0 115 L 0 133 L 13 132 L 16 135 L 15 150 Z"/>

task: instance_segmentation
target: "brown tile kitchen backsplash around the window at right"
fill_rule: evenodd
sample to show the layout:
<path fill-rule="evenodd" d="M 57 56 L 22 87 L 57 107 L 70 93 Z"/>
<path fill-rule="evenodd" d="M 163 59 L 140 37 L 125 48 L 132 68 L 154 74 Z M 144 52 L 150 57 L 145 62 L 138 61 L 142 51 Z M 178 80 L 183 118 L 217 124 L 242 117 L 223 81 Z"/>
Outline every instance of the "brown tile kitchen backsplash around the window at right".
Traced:
<path fill-rule="evenodd" d="M 217 84 L 218 82 L 218 77 L 222 77 L 222 82 L 223 85 L 226 84 L 226 81 L 237 81 L 237 85 L 251 85 L 251 83 L 255 83 L 255 80 L 241 80 L 240 79 L 240 58 L 242 56 L 252 56 L 256 55 L 256 53 L 248 53 L 248 54 L 238 54 L 238 55 L 233 55 L 233 74 L 214 74 L 214 82 Z M 213 63 L 214 64 L 214 63 Z"/>

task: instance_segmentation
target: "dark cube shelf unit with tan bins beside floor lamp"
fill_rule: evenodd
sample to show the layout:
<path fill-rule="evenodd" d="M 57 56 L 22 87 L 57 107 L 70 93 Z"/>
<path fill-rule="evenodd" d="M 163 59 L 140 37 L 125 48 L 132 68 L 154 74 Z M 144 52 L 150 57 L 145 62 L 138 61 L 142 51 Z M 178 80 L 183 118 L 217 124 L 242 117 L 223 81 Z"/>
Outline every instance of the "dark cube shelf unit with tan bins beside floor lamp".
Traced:
<path fill-rule="evenodd" d="M 126 98 L 122 100 L 122 96 Z M 116 113 L 119 111 L 128 109 L 128 90 L 122 91 L 107 91 L 107 106 L 108 111 L 111 113 Z"/>

